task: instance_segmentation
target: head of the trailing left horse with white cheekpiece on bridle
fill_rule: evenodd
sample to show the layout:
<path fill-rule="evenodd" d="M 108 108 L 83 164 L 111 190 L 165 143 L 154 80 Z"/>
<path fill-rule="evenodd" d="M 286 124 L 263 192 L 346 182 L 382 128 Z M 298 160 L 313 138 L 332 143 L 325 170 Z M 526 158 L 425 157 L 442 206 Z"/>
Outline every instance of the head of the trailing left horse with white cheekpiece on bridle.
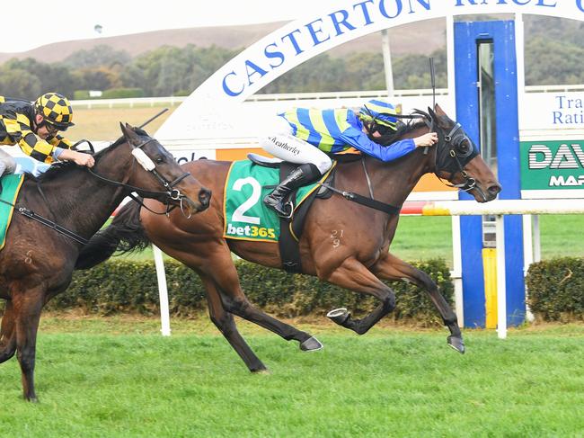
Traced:
<path fill-rule="evenodd" d="M 138 165 L 132 165 L 128 183 L 138 194 L 167 205 L 180 206 L 187 214 L 206 210 L 211 192 L 190 173 L 184 172 L 174 157 L 145 131 L 119 123 L 124 139 Z"/>

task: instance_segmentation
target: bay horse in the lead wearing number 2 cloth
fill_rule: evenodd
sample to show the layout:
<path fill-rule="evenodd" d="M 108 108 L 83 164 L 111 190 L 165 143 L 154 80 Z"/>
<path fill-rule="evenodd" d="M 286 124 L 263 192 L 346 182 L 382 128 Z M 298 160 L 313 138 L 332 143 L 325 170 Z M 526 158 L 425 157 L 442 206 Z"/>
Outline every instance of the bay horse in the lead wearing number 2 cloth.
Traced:
<path fill-rule="evenodd" d="M 500 184 L 462 127 L 450 120 L 438 105 L 435 112 L 429 109 L 426 121 L 403 125 L 398 135 L 400 138 L 414 138 L 429 132 L 430 127 L 438 132 L 437 146 L 429 147 L 427 151 L 417 148 L 391 163 L 369 156 L 363 156 L 362 161 L 341 163 L 337 166 L 335 187 L 365 197 L 373 192 L 376 201 L 401 207 L 421 175 L 435 173 L 473 193 L 476 201 L 493 200 L 501 190 Z M 93 237 L 80 255 L 77 266 L 84 269 L 102 262 L 115 252 L 119 244 L 139 247 L 153 242 L 164 253 L 199 274 L 206 288 L 211 320 L 250 371 L 261 371 L 265 367 L 238 333 L 233 315 L 268 328 L 284 339 L 294 339 L 303 350 L 318 349 L 322 345 L 311 335 L 254 308 L 243 294 L 232 252 L 245 260 L 273 268 L 281 268 L 281 258 L 277 243 L 223 237 L 222 200 L 230 165 L 230 162 L 213 160 L 184 165 L 215 193 L 211 207 L 204 213 L 191 220 L 173 213 L 169 222 L 130 204 L 120 211 L 110 227 Z M 370 179 L 370 188 L 367 179 Z M 160 208 L 155 201 L 146 201 L 146 204 Z M 404 263 L 388 251 L 398 219 L 399 214 L 373 210 L 346 201 L 338 194 L 326 200 L 317 199 L 307 214 L 299 242 L 303 273 L 379 299 L 378 307 L 362 319 L 353 319 L 344 310 L 329 315 L 333 321 L 359 335 L 366 333 L 394 308 L 394 292 L 382 280 L 413 282 L 429 293 L 438 308 L 450 330 L 448 344 L 464 353 L 465 345 L 456 314 L 438 291 L 436 283 L 427 273 Z"/>

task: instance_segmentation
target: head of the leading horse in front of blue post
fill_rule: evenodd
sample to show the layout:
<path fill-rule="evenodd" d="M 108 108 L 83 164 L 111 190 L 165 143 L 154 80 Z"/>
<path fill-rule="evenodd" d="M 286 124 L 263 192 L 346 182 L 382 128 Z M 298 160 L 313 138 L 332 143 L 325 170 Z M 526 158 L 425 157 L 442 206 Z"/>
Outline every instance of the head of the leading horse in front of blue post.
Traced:
<path fill-rule="evenodd" d="M 482 159 L 479 148 L 438 104 L 435 111 L 428 110 L 438 133 L 435 173 L 455 187 L 473 194 L 478 202 L 494 200 L 501 186 Z"/>

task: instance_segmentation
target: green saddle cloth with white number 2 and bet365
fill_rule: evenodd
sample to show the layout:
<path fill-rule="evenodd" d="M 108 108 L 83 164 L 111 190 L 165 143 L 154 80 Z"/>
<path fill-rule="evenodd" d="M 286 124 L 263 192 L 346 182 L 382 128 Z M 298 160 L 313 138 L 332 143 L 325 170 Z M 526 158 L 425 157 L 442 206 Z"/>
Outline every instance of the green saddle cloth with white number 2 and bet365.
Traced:
<path fill-rule="evenodd" d="M 223 237 L 258 242 L 278 242 L 279 216 L 263 198 L 279 183 L 279 169 L 256 165 L 250 160 L 234 161 L 226 177 L 223 199 Z M 296 192 L 297 207 L 318 188 L 318 183 Z"/>

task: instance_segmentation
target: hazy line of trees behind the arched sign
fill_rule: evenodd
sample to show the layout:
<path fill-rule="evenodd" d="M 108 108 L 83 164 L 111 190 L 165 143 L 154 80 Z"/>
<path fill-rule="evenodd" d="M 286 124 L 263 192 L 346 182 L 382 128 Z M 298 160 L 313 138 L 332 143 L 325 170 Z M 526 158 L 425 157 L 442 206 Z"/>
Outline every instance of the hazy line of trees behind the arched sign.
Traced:
<path fill-rule="evenodd" d="M 550 17 L 526 22 L 526 85 L 584 84 L 584 23 Z M 217 46 L 163 46 L 135 58 L 101 45 L 78 50 L 62 62 L 10 59 L 0 66 L 0 94 L 34 99 L 49 90 L 83 98 L 87 90 L 106 97 L 188 95 L 242 49 Z M 434 58 L 436 85 L 447 86 L 446 49 Z M 429 88 L 425 55 L 393 58 L 396 89 Z M 353 52 L 343 58 L 327 53 L 295 67 L 260 93 L 308 93 L 385 89 L 384 60 L 377 52 Z"/>

